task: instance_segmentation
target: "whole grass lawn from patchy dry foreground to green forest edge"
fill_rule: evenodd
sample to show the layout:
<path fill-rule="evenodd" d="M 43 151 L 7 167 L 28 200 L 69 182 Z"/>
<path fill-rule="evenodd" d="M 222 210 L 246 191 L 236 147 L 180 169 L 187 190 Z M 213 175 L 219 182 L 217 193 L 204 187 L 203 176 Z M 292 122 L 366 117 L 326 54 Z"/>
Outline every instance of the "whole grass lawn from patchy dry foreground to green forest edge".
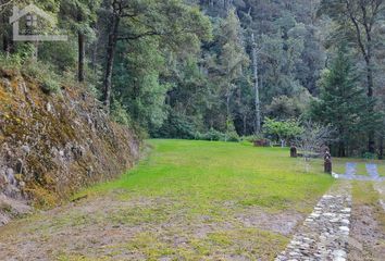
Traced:
<path fill-rule="evenodd" d="M 75 207 L 9 226 L 4 254 L 41 246 L 26 249 L 29 257 L 37 251 L 63 261 L 273 260 L 334 182 L 320 164 L 306 173 L 288 149 L 148 144 L 147 159 L 121 178 L 76 195 L 88 198 Z"/>

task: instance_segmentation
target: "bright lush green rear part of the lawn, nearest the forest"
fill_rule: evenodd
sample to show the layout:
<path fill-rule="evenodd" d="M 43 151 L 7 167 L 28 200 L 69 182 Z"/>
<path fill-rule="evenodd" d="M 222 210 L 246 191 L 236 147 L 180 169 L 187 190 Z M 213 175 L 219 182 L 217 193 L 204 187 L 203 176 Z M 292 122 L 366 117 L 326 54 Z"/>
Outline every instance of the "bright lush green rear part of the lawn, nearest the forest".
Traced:
<path fill-rule="evenodd" d="M 249 144 L 150 140 L 150 157 L 122 178 L 85 192 L 126 189 L 129 195 L 184 199 L 197 209 L 216 201 L 260 206 L 268 210 L 308 212 L 314 196 L 333 178 L 316 164 L 306 172 L 288 149 Z"/>

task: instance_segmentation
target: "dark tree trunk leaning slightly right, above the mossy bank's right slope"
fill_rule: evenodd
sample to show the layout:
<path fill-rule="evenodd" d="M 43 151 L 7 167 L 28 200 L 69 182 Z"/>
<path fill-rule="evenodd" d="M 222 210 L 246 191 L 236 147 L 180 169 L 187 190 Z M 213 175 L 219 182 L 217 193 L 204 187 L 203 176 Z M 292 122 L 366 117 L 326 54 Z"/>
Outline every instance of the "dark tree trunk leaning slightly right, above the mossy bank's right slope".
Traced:
<path fill-rule="evenodd" d="M 114 14 L 112 16 L 112 30 L 109 35 L 109 41 L 107 46 L 105 75 L 104 75 L 104 83 L 103 83 L 103 103 L 107 111 L 110 111 L 110 103 L 111 103 L 112 72 L 113 72 L 113 62 L 114 62 L 115 48 L 117 41 L 119 23 L 120 23 L 120 17 L 116 14 Z"/>

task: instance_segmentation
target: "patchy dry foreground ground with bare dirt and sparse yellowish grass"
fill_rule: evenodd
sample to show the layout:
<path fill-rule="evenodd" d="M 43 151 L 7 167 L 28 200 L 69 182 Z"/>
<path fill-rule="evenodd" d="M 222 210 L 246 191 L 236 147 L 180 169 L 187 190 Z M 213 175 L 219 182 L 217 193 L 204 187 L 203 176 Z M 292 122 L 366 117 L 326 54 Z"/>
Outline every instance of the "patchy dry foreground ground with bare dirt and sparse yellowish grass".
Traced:
<path fill-rule="evenodd" d="M 0 260 L 272 260 L 305 219 L 221 204 L 223 219 L 166 198 L 85 199 L 0 228 Z"/>

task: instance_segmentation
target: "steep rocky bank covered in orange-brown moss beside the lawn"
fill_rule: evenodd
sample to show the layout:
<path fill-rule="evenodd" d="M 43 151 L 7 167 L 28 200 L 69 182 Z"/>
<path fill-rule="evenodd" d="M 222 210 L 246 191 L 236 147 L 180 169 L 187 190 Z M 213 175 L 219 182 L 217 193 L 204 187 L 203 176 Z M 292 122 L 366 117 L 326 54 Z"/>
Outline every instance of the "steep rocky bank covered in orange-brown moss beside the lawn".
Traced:
<path fill-rule="evenodd" d="M 80 87 L 48 95 L 0 69 L 0 225 L 30 204 L 50 207 L 105 181 L 139 157 L 134 133 L 111 122 Z"/>

